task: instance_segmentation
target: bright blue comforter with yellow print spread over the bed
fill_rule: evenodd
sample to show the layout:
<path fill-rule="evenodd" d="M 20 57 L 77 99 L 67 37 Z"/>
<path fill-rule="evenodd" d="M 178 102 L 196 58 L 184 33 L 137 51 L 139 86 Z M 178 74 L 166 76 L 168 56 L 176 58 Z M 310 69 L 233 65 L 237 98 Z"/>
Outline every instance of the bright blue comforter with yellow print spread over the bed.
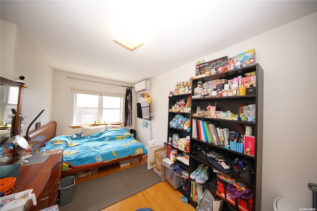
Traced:
<path fill-rule="evenodd" d="M 127 128 L 108 129 L 91 136 L 60 135 L 48 141 L 41 151 L 63 149 L 63 162 L 82 167 L 117 158 L 148 154 L 144 145 Z"/>

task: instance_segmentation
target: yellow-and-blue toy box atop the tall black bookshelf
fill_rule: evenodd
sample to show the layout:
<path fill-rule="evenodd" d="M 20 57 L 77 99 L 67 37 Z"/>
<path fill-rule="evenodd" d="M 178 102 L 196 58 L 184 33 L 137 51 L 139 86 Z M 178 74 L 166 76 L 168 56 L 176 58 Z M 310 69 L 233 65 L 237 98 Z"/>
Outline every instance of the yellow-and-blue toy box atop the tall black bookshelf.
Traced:
<path fill-rule="evenodd" d="M 240 67 L 250 66 L 256 63 L 256 50 L 251 49 L 249 51 L 239 53 L 238 55 L 232 56 L 228 60 L 227 71 L 238 69 Z"/>

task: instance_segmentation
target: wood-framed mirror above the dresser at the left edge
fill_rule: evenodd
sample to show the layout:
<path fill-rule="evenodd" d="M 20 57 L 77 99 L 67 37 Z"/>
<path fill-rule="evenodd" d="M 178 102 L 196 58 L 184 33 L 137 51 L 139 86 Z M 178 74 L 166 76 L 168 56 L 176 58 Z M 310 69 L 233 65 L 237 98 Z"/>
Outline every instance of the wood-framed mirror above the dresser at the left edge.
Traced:
<path fill-rule="evenodd" d="M 15 81 L 11 81 L 9 79 L 0 77 L 0 138 L 3 140 L 1 141 L 1 147 L 2 144 L 5 144 L 4 140 L 7 140 L 6 142 L 11 142 L 12 137 L 18 134 L 18 118 L 13 119 L 10 116 L 15 112 L 15 116 L 19 116 L 21 114 L 21 97 L 22 97 L 22 87 L 23 84 L 17 83 Z M 10 122 L 11 121 L 11 122 Z M 11 124 L 9 124 L 11 123 Z M 7 130 L 9 127 L 11 127 L 11 130 Z M 8 139 L 6 137 L 9 137 Z M 8 160 L 7 162 L 1 162 L 1 165 L 4 164 L 11 164 L 16 160 L 16 150 L 15 146 L 13 146 L 12 151 L 12 159 Z"/>

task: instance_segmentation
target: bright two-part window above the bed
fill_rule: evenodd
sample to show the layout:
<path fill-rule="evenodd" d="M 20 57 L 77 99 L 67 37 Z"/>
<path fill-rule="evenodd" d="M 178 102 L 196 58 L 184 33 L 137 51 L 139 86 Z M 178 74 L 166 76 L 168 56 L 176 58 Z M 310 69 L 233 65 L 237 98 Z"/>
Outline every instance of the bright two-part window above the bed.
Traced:
<path fill-rule="evenodd" d="M 123 97 L 75 94 L 73 124 L 120 123 Z"/>

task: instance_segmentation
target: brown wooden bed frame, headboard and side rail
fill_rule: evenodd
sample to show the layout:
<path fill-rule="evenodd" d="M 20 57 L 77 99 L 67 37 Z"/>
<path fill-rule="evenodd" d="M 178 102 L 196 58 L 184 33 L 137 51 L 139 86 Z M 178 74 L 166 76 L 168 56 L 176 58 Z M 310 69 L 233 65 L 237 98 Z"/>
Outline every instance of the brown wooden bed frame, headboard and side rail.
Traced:
<path fill-rule="evenodd" d="M 49 122 L 31 132 L 29 132 L 29 141 L 30 144 L 32 145 L 32 152 L 35 152 L 35 149 L 38 151 L 41 150 L 41 148 L 44 146 L 44 144 L 55 137 L 56 135 L 56 125 L 57 123 L 52 121 Z M 94 168 L 99 168 L 102 166 L 110 165 L 113 163 L 118 163 L 121 161 L 133 159 L 133 158 L 139 158 L 139 162 L 141 163 L 142 161 L 142 155 L 136 155 L 136 156 L 128 156 L 126 158 L 118 158 L 115 160 L 111 160 L 109 162 L 104 162 L 104 163 L 98 163 L 96 165 L 91 165 L 91 166 L 84 166 L 84 167 L 78 167 L 78 168 L 71 168 L 69 167 L 67 171 L 62 171 L 62 177 L 67 176 L 67 175 L 72 175 L 75 173 L 91 170 Z"/>

